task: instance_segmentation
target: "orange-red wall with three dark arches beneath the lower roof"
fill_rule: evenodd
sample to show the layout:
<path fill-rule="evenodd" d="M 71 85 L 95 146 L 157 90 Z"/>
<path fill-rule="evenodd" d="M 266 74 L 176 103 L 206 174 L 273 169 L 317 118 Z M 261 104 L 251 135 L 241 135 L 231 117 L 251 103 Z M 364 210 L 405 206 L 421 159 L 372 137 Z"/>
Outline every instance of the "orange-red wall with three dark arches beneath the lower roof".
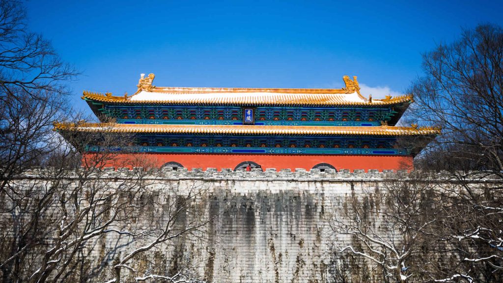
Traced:
<path fill-rule="evenodd" d="M 84 159 L 92 158 L 93 154 L 85 155 Z M 103 166 L 109 167 L 161 167 L 166 162 L 175 161 L 185 168 L 222 168 L 234 169 L 239 163 L 253 161 L 263 169 L 277 170 L 304 168 L 310 170 L 319 163 L 328 163 L 337 170 L 378 169 L 382 170 L 412 170 L 410 156 L 363 156 L 363 155 L 221 155 L 221 154 L 119 154 L 109 159 Z M 85 163 L 85 161 L 83 161 Z M 88 162 L 88 165 L 91 164 Z M 84 165 L 86 166 L 86 165 Z"/>

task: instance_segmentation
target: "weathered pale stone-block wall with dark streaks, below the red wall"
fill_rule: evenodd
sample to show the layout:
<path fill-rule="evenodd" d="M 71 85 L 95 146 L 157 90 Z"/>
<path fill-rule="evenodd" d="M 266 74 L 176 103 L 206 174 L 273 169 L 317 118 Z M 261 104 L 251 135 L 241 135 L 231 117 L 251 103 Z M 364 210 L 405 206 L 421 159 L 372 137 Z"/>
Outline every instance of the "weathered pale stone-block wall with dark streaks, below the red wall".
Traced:
<path fill-rule="evenodd" d="M 126 178 L 135 170 L 139 169 L 107 169 L 100 178 Z M 189 262 L 209 282 L 275 283 L 378 281 L 371 264 L 362 258 L 333 253 L 352 244 L 352 239 L 334 238 L 326 220 L 342 215 L 351 198 L 371 195 L 385 178 L 406 176 L 405 172 L 316 169 L 188 172 L 164 168 L 157 173 L 152 188 L 160 192 L 155 196 L 159 202 L 165 194 L 183 194 L 184 188 L 199 184 L 205 193 L 198 205 L 211 221 L 204 227 L 208 235 L 204 242 L 176 239 L 149 253 L 151 260 L 161 262 L 165 270 Z M 162 207 L 149 209 L 141 211 L 135 225 L 148 226 L 163 218 Z M 386 225 L 378 217 L 371 222 L 376 227 Z M 128 243 L 127 237 L 109 234 L 96 243 L 93 255 L 110 264 L 118 250 L 135 248 Z M 105 270 L 111 272 L 109 267 Z"/>

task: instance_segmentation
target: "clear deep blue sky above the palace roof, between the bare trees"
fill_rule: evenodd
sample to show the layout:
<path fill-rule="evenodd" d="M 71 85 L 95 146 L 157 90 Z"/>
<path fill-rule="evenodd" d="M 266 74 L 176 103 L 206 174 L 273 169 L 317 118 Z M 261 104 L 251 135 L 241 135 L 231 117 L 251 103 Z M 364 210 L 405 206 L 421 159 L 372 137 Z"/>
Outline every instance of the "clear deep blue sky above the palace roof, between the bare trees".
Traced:
<path fill-rule="evenodd" d="M 503 26 L 503 1 L 30 1 L 32 31 L 82 73 L 82 90 L 132 94 L 140 73 L 179 87 L 405 91 L 421 54 L 479 23 Z"/>

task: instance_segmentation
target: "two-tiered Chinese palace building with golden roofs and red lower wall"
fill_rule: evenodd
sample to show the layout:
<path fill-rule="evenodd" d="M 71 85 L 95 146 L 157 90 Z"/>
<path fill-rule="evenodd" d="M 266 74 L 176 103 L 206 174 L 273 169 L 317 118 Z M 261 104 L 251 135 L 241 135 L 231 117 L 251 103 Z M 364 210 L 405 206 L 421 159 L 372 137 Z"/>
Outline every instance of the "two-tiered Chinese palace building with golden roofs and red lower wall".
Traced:
<path fill-rule="evenodd" d="M 155 87 L 141 75 L 131 96 L 84 92 L 102 123 L 56 124 L 68 132 L 130 133 L 124 156 L 142 155 L 156 166 L 411 169 L 418 150 L 440 130 L 395 126 L 411 95 L 372 99 L 357 77 L 341 89 Z M 105 123 L 107 121 L 113 123 Z M 99 151 L 88 144 L 87 152 Z"/>

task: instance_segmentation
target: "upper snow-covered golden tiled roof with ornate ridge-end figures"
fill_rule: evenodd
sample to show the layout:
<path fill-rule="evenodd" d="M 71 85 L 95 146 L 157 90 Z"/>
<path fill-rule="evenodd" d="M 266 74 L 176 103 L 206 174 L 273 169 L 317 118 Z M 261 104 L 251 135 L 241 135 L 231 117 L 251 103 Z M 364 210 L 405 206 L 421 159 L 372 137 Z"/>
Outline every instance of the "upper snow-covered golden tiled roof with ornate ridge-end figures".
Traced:
<path fill-rule="evenodd" d="M 141 76 L 132 96 L 112 96 L 84 91 L 82 99 L 125 104 L 208 104 L 208 105 L 313 105 L 378 106 L 412 102 L 412 95 L 385 99 L 364 97 L 356 77 L 344 76 L 342 89 L 260 89 L 260 88 L 173 88 L 155 87 L 153 74 Z"/>

